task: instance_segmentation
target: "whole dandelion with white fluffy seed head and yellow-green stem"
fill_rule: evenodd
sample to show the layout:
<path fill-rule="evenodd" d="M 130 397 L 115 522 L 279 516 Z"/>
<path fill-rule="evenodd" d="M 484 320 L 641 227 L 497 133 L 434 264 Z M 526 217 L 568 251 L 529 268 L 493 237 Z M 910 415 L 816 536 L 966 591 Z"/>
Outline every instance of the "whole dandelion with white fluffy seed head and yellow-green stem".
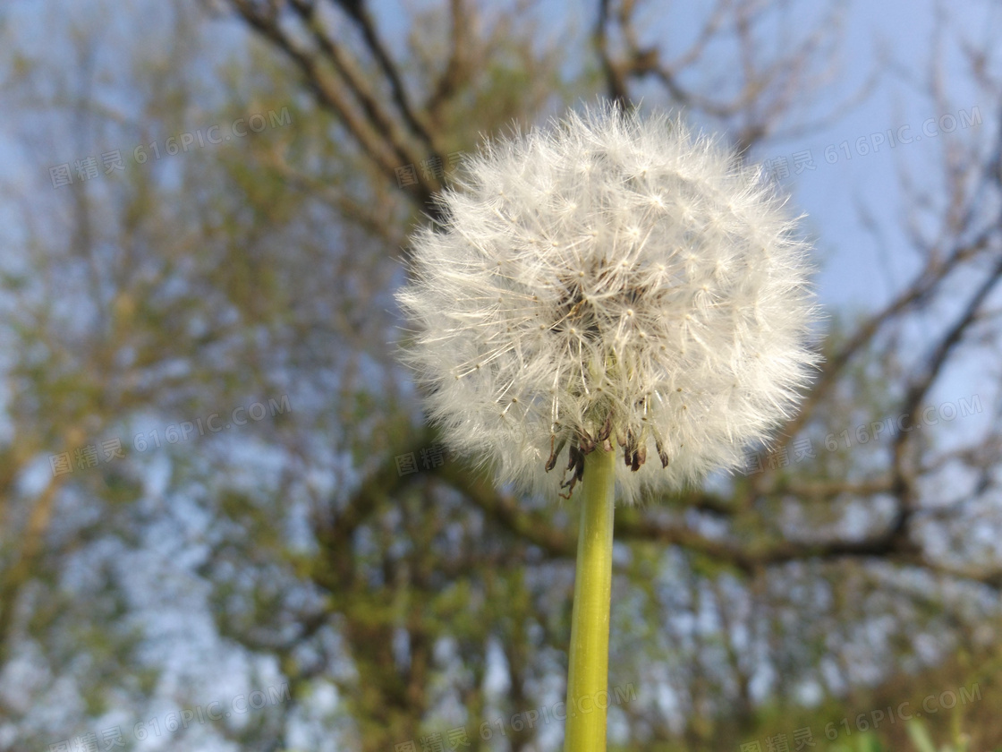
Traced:
<path fill-rule="evenodd" d="M 606 689 L 612 499 L 733 469 L 791 416 L 818 360 L 810 248 L 760 168 L 615 105 L 488 142 L 439 201 L 398 294 L 404 358 L 498 482 L 583 481 L 566 743 L 604 749 L 604 712 L 579 727 L 570 703 Z"/>

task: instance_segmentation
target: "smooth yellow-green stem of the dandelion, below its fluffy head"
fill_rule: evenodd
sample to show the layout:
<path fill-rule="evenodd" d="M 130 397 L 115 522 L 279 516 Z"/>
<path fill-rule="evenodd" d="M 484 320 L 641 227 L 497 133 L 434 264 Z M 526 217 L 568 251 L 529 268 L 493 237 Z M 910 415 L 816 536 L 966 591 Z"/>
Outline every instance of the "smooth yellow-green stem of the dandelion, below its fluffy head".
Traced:
<path fill-rule="evenodd" d="M 584 458 L 564 752 L 605 750 L 615 461 L 615 451 L 603 451 L 601 445 Z"/>

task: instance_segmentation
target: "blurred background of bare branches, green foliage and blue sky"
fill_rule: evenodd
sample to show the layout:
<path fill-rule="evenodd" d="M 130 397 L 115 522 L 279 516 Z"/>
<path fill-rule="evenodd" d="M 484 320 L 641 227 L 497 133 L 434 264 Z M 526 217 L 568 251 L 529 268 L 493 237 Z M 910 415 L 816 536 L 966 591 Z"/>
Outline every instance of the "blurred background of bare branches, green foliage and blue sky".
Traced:
<path fill-rule="evenodd" d="M 0 749 L 544 752 L 574 502 L 444 451 L 407 236 L 483 135 L 679 109 L 792 195 L 827 360 L 617 510 L 614 750 L 1002 747 L 996 2 L 0 7 Z"/>

